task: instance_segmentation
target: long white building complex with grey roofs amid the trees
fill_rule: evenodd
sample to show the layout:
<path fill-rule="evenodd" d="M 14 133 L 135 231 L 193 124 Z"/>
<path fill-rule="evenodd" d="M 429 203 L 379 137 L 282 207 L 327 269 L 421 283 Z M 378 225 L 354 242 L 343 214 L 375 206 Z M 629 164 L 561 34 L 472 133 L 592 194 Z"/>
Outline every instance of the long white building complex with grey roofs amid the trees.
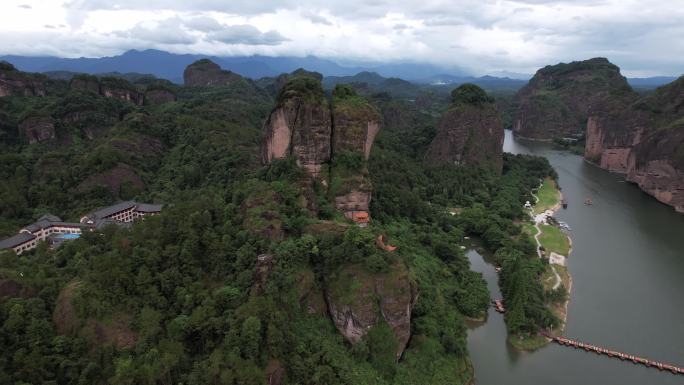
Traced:
<path fill-rule="evenodd" d="M 0 249 L 13 249 L 21 254 L 34 249 L 40 241 L 56 247 L 64 241 L 78 238 L 83 231 L 101 229 L 109 224 L 130 225 L 138 218 L 159 214 L 161 210 L 162 205 L 127 201 L 87 214 L 80 223 L 64 222 L 55 215 L 46 214 L 19 230 L 19 234 L 0 240 Z"/>

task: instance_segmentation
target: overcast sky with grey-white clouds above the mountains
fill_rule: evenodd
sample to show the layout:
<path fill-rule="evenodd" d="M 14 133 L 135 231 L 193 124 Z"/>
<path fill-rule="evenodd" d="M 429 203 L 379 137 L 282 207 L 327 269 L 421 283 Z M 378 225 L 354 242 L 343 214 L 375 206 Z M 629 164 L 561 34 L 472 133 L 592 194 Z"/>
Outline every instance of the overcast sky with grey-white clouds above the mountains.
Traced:
<path fill-rule="evenodd" d="M 678 76 L 684 0 L 0 0 L 0 54 L 148 48 L 431 63 L 475 75 L 602 56 L 626 76 Z"/>

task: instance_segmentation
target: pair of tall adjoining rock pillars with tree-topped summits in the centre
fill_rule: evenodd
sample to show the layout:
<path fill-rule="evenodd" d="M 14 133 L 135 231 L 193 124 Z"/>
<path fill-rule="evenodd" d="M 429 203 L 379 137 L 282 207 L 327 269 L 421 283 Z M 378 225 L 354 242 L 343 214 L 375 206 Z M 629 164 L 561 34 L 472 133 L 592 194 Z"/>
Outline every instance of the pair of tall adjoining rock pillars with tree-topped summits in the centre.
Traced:
<path fill-rule="evenodd" d="M 281 86 L 265 124 L 263 162 L 294 156 L 330 188 L 335 207 L 347 218 L 367 218 L 372 189 L 366 162 L 380 130 L 380 114 L 345 85 L 335 88 L 331 106 L 320 76 L 313 75 L 298 71 Z"/>

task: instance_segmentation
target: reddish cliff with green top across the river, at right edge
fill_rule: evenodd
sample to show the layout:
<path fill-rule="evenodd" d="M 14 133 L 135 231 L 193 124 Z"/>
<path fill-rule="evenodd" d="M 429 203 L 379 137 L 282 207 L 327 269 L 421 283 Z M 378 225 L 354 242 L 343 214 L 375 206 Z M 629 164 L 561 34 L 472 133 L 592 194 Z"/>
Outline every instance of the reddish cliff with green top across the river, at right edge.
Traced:
<path fill-rule="evenodd" d="M 684 77 L 618 107 L 592 112 L 585 158 L 684 213 Z"/>

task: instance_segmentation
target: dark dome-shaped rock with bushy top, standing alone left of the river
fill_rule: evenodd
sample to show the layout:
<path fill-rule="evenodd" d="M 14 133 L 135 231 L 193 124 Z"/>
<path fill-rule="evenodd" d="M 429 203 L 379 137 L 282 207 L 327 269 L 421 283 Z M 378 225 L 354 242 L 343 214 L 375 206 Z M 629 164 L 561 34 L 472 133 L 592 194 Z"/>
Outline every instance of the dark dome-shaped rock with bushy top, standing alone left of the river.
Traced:
<path fill-rule="evenodd" d="M 504 130 L 494 99 L 474 84 L 459 86 L 451 96 L 426 162 L 488 165 L 501 173 Z"/>

